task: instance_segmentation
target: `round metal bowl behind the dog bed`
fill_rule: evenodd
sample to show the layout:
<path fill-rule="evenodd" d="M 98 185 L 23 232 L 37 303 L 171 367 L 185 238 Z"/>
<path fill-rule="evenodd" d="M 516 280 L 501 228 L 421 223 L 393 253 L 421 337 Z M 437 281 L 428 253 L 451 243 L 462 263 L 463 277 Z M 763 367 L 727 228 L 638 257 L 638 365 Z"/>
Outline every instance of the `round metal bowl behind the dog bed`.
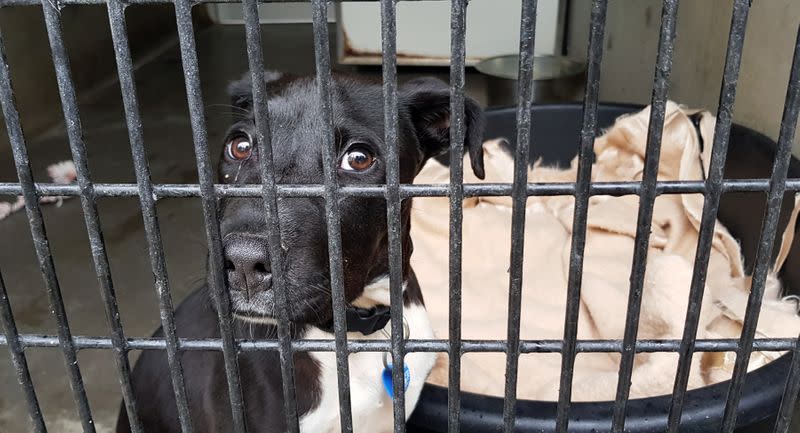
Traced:
<path fill-rule="evenodd" d="M 488 104 L 492 107 L 517 103 L 519 56 L 489 57 L 475 69 L 488 76 Z M 585 88 L 584 62 L 563 56 L 535 56 L 533 59 L 533 102 L 578 101 Z"/>

